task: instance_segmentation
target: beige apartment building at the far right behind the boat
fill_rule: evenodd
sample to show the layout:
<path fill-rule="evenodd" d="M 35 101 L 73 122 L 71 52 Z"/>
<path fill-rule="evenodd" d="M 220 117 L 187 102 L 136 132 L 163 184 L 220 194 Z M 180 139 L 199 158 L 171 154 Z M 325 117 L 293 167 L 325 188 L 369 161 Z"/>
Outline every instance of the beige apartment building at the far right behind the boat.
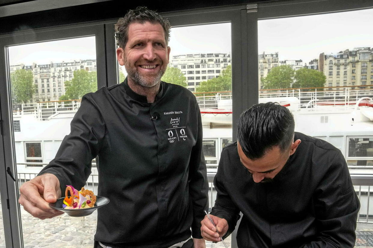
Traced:
<path fill-rule="evenodd" d="M 322 53 L 319 68 L 326 76 L 326 87 L 373 89 L 373 49 L 370 47 L 347 49 L 336 54 Z"/>

